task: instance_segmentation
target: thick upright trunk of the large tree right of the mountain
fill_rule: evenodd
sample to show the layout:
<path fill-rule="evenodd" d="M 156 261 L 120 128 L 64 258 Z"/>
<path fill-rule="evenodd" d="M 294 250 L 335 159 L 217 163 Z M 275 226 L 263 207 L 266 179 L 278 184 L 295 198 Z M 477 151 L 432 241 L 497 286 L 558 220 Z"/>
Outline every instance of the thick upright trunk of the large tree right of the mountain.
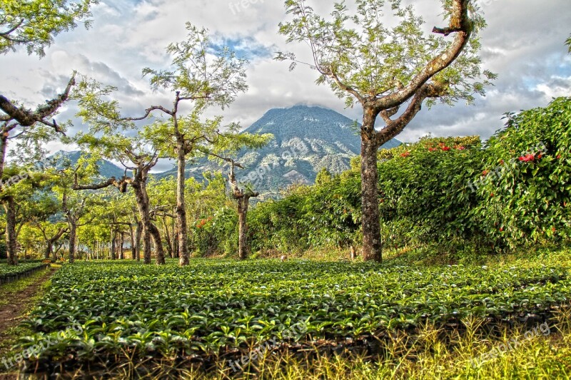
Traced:
<path fill-rule="evenodd" d="M 363 260 L 383 260 L 380 241 L 380 214 L 378 198 L 378 145 L 374 140 L 373 111 L 365 109 L 361 127 L 361 201 L 363 207 Z"/>

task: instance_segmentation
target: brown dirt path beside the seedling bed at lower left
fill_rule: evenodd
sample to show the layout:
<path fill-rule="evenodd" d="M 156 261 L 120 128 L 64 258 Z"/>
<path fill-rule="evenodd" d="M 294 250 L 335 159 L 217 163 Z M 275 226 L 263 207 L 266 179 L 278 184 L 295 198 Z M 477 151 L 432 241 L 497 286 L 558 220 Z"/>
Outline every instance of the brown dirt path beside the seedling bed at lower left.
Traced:
<path fill-rule="evenodd" d="M 33 306 L 31 299 L 38 295 L 42 284 L 44 284 L 54 272 L 56 272 L 54 268 L 46 270 L 41 274 L 41 277 L 19 292 L 3 292 L 3 289 L 0 289 L 0 297 L 4 298 L 0 304 L 0 342 L 6 339 L 6 332 L 9 329 L 16 327 L 21 320 L 24 319 L 26 312 Z M 32 274 L 32 276 L 33 275 L 34 274 Z M 11 282 L 7 285 L 8 287 L 10 284 L 16 285 L 20 281 L 26 281 L 26 279 L 27 278 Z"/>

